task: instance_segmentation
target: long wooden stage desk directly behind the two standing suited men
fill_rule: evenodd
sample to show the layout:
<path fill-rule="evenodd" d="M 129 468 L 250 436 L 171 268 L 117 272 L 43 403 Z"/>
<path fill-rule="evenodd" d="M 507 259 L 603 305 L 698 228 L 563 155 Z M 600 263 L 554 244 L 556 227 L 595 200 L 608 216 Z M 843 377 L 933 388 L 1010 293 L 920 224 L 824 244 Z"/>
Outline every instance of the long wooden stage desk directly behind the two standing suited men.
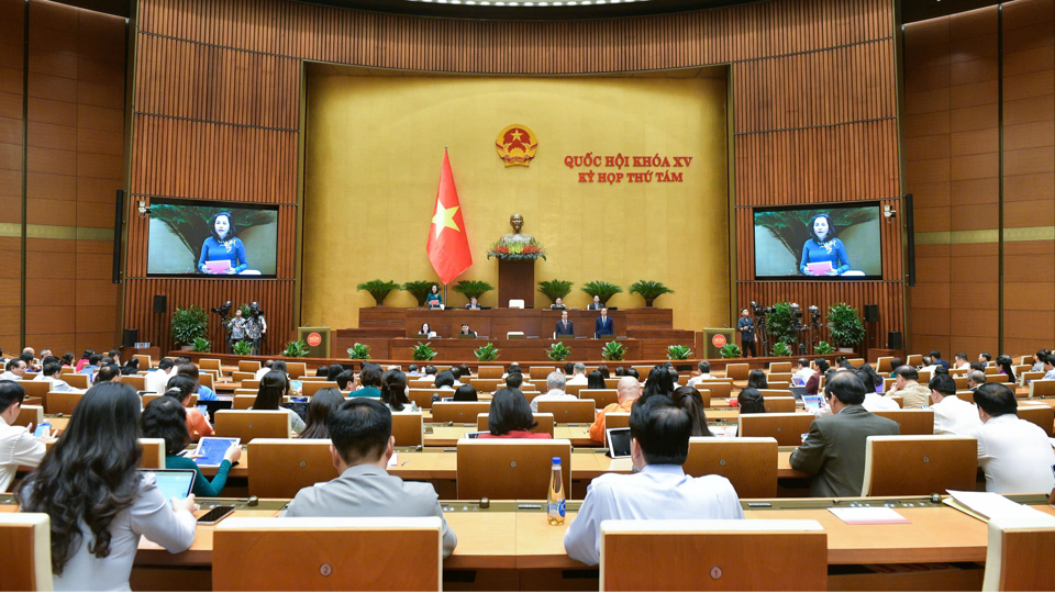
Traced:
<path fill-rule="evenodd" d="M 626 312 L 609 311 L 608 314 L 614 323 L 615 335 L 625 336 Z M 600 311 L 568 311 L 568 321 L 575 325 L 576 336 L 593 337 L 593 325 L 600 316 Z M 441 337 L 455 337 L 462 331 L 462 323 L 465 322 L 477 335 L 488 336 L 493 342 L 504 339 L 507 332 L 523 332 L 526 336 L 548 338 L 553 336 L 553 329 L 558 321 L 560 321 L 560 311 L 549 309 L 489 309 L 487 311 L 411 309 L 407 311 L 406 329 L 407 337 L 413 337 L 421 328 L 421 324 L 427 323 Z M 571 338 L 565 336 L 564 339 L 567 342 Z M 628 356 L 628 358 L 634 357 Z"/>

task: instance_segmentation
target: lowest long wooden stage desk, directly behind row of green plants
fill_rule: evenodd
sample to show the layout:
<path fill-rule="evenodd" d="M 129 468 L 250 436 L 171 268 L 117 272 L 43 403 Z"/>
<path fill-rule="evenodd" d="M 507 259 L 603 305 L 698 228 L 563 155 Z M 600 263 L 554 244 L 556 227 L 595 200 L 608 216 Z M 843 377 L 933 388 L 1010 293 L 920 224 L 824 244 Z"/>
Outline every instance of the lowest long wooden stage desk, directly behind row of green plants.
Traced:
<path fill-rule="evenodd" d="M 590 326 L 592 329 L 592 326 Z M 482 335 L 482 332 L 477 332 Z M 598 361 L 601 360 L 601 348 L 606 342 L 602 339 L 551 339 L 548 334 L 540 339 L 506 339 L 506 334 L 499 339 L 422 339 L 422 338 L 399 338 L 389 340 L 392 347 L 392 360 L 412 360 L 410 349 L 421 343 L 429 343 L 430 347 L 436 350 L 436 360 L 476 360 L 473 350 L 488 343 L 493 344 L 501 350 L 499 360 L 496 365 L 508 365 L 513 360 L 544 360 L 546 358 L 545 349 L 557 342 L 563 343 L 571 349 L 571 356 L 568 361 Z M 626 347 L 626 359 L 633 360 L 641 357 L 641 342 L 636 339 L 620 339 L 620 344 Z M 418 362 L 421 365 L 421 362 Z M 609 367 L 615 368 L 620 362 L 608 362 Z M 553 362 L 554 367 L 564 367 L 564 362 Z"/>

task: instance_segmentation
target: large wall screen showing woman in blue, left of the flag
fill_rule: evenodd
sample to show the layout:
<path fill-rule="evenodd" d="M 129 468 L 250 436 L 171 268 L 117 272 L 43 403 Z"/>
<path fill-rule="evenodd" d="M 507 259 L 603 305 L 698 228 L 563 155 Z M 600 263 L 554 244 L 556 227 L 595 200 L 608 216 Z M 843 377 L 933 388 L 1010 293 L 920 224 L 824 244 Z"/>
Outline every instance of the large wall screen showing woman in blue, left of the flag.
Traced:
<path fill-rule="evenodd" d="M 278 206 L 151 203 L 148 276 L 274 278 Z"/>

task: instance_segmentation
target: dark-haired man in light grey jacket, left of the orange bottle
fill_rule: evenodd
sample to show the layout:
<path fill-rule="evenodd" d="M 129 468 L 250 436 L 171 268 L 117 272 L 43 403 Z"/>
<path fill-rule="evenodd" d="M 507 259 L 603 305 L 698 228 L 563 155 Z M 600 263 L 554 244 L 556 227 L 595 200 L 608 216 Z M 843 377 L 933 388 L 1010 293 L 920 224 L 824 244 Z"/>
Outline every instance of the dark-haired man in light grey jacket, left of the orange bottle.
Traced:
<path fill-rule="evenodd" d="M 387 471 L 395 455 L 392 413 L 379 401 L 353 399 L 330 414 L 330 452 L 340 474 L 303 488 L 287 517 L 440 517 L 443 557 L 458 545 L 436 490 L 427 482 L 404 482 Z"/>

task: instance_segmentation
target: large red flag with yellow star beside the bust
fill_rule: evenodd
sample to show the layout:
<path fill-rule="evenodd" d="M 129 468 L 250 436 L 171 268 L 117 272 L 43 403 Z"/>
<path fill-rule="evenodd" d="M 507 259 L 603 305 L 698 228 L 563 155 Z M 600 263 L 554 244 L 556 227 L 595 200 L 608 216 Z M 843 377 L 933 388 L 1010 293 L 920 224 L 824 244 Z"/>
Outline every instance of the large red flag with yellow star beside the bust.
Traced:
<path fill-rule="evenodd" d="M 465 220 L 462 217 L 462 204 L 458 203 L 458 190 L 454 187 L 454 174 L 451 160 L 443 152 L 443 167 L 440 169 L 440 189 L 436 191 L 436 206 L 433 209 L 432 226 L 429 228 L 429 261 L 440 275 L 445 286 L 469 269 L 473 254 L 469 251 L 469 238 L 465 234 Z"/>

